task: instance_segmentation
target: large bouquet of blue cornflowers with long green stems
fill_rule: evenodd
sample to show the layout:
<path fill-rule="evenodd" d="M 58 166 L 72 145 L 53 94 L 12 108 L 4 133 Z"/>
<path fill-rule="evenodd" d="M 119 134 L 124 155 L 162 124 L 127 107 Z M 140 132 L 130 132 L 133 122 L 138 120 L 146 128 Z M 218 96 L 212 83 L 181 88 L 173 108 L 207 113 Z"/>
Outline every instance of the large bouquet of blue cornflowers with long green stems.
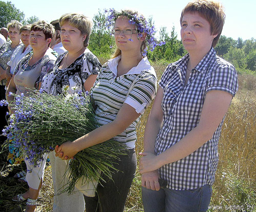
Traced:
<path fill-rule="evenodd" d="M 89 93 L 78 91 L 72 94 L 66 87 L 58 96 L 42 90 L 31 91 L 30 96 L 9 95 L 15 97 L 9 103 L 15 113 L 3 130 L 3 135 L 7 136 L 4 146 L 14 142 L 34 167 L 40 165 L 43 155 L 54 150 L 56 145 L 74 141 L 99 126 Z M 109 140 L 78 152 L 69 161 L 66 171 L 68 186 L 61 192 L 72 193 L 80 178 L 84 183 L 90 180 L 99 182 L 103 180 L 101 172 L 111 178 L 116 170 L 113 160 L 126 154 L 125 150 L 125 144 Z"/>

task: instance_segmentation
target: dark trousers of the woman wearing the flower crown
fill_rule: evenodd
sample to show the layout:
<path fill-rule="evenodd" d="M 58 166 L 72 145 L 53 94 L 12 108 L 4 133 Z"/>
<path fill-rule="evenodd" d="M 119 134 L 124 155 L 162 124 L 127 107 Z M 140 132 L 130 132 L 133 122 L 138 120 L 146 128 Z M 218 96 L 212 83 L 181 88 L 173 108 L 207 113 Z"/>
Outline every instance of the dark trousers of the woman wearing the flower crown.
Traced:
<path fill-rule="evenodd" d="M 112 179 L 102 176 L 96 189 L 95 197 L 84 196 L 87 212 L 122 212 L 126 197 L 131 188 L 136 171 L 136 154 L 134 149 L 127 150 L 127 155 L 120 155 L 120 161 L 114 167 Z"/>

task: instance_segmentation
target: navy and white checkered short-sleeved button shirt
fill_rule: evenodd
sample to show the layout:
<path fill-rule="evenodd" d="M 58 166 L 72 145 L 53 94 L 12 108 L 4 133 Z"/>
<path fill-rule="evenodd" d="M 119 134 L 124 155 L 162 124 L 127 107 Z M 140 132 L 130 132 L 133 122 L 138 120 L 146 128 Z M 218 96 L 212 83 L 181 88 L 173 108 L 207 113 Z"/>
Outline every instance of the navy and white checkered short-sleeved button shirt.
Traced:
<path fill-rule="evenodd" d="M 172 147 L 197 126 L 207 92 L 226 91 L 234 96 L 238 90 L 236 69 L 218 57 L 214 48 L 191 70 L 184 86 L 188 60 L 189 55 L 186 55 L 169 64 L 159 82 L 164 91 L 163 124 L 156 139 L 156 155 Z M 168 181 L 167 188 L 188 190 L 214 183 L 223 121 L 224 118 L 214 136 L 198 150 L 159 169 L 160 177 Z"/>

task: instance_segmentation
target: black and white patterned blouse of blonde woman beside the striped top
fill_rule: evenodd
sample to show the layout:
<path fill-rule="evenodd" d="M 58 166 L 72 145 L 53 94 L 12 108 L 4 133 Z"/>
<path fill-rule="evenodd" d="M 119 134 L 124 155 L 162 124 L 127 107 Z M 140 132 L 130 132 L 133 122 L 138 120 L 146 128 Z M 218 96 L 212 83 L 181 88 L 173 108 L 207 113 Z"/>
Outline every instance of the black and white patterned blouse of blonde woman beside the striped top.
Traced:
<path fill-rule="evenodd" d="M 62 93 L 65 86 L 77 87 L 76 90 L 70 89 L 71 92 L 77 92 L 83 89 L 83 84 L 91 74 L 98 74 L 101 64 L 98 58 L 86 49 L 69 67 L 59 69 L 61 60 L 68 54 L 68 51 L 61 54 L 56 60 L 53 71 L 48 73 L 42 79 L 41 88 L 52 95 Z"/>

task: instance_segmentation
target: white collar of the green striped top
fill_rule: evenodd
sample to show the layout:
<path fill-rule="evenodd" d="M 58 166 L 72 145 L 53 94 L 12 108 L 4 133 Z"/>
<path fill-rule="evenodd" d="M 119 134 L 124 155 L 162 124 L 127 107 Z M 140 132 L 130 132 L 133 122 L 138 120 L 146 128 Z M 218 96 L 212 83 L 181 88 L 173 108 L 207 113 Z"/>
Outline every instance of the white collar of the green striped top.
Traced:
<path fill-rule="evenodd" d="M 117 76 L 117 65 L 119 60 L 121 59 L 121 55 L 116 58 L 113 58 L 108 61 L 108 66 L 110 70 L 113 72 L 113 78 Z M 147 57 L 141 59 L 139 64 L 133 68 L 131 68 L 126 74 L 140 74 L 142 71 L 147 70 L 148 72 L 154 74 L 156 76 L 155 69 L 150 65 L 150 62 L 147 60 Z"/>

